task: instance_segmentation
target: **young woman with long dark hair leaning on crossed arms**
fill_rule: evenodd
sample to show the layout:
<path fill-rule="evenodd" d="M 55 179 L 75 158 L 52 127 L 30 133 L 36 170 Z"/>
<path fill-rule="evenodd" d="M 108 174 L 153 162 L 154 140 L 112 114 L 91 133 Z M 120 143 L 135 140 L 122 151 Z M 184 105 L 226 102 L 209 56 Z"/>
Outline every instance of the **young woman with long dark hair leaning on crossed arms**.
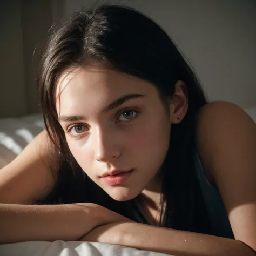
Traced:
<path fill-rule="evenodd" d="M 38 83 L 47 132 L 1 170 L 2 243 L 254 255 L 255 123 L 207 103 L 150 18 L 76 12 L 51 36 Z"/>

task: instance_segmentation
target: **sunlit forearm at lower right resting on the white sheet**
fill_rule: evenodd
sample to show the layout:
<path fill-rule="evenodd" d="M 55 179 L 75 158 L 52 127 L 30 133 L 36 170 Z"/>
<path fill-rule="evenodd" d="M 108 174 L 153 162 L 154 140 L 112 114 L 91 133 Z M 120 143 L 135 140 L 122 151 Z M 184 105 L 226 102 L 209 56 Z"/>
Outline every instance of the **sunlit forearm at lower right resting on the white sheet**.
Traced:
<path fill-rule="evenodd" d="M 98 233 L 97 241 L 110 242 L 139 250 L 176 256 L 255 255 L 249 247 L 240 241 L 212 235 L 178 231 L 139 223 L 117 223 L 105 226 L 105 230 L 102 229 Z M 111 237 L 112 241 L 107 241 L 109 239 L 107 237 Z"/>

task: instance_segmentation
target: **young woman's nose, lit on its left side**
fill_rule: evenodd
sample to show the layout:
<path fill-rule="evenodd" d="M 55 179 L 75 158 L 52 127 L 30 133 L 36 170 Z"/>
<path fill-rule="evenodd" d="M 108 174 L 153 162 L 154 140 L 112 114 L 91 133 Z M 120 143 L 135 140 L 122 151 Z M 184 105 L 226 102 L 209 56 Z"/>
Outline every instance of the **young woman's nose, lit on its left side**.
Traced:
<path fill-rule="evenodd" d="M 95 132 L 94 148 L 95 159 L 100 162 L 108 162 L 120 156 L 120 149 L 114 132 L 109 130 L 97 129 Z"/>

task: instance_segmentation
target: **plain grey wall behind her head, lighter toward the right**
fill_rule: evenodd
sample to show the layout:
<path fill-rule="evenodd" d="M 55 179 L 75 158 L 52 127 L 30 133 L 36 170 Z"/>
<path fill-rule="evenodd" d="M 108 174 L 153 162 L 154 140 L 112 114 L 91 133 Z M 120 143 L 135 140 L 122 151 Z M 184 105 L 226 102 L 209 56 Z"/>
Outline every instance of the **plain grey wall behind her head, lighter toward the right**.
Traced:
<path fill-rule="evenodd" d="M 65 0 L 66 14 L 93 2 Z M 112 2 L 138 8 L 161 25 L 192 63 L 210 99 L 256 106 L 255 0 Z"/>

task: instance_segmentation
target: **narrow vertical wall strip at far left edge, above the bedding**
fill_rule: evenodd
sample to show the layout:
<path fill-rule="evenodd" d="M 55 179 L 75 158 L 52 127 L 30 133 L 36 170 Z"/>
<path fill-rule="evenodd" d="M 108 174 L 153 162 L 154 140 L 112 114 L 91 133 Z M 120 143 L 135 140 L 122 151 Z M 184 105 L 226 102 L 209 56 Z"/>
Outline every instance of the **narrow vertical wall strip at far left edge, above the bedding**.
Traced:
<path fill-rule="evenodd" d="M 21 4 L 0 5 L 0 116 L 19 116 L 26 113 Z"/>

